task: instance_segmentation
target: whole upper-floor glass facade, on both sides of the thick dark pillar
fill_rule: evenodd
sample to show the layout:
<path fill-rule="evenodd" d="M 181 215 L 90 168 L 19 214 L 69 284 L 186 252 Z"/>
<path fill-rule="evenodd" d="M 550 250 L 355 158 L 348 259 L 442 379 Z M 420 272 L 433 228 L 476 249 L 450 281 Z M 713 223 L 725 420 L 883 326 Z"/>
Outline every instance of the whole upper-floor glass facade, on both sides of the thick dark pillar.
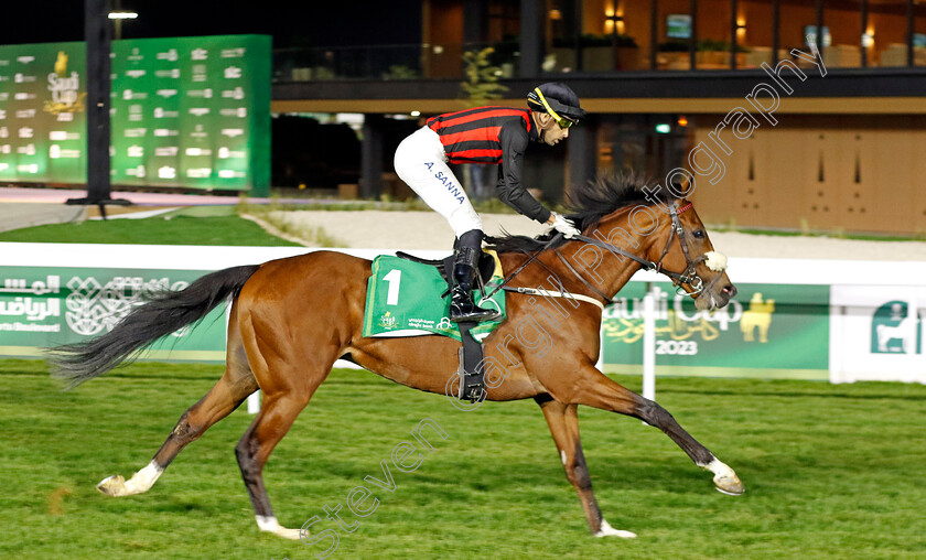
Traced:
<path fill-rule="evenodd" d="M 422 43 L 278 51 L 274 78 L 460 78 L 492 47 L 499 78 L 519 67 L 521 2 L 424 0 Z M 828 68 L 926 66 L 918 0 L 540 0 L 540 72 L 731 71 L 793 60 L 808 36 Z M 820 28 L 819 33 L 817 28 Z M 800 63 L 803 64 L 803 63 Z"/>

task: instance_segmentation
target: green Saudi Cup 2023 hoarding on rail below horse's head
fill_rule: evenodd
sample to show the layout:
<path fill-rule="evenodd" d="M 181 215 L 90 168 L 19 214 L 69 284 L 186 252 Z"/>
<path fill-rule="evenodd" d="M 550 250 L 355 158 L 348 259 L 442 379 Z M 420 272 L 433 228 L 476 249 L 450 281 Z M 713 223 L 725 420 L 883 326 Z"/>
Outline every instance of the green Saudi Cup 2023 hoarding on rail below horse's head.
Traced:
<path fill-rule="evenodd" d="M 828 379 L 829 286 L 739 284 L 712 313 L 669 283 L 655 286 L 657 374 Z M 604 312 L 607 371 L 640 370 L 645 292 L 631 282 Z"/>

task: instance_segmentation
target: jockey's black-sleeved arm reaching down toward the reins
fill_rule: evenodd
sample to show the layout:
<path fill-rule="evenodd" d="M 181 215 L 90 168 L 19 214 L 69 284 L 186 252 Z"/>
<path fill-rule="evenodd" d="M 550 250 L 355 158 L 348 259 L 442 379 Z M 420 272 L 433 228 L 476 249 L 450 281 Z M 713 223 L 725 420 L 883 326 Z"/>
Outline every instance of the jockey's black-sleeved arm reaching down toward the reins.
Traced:
<path fill-rule="evenodd" d="M 552 213 L 521 184 L 527 131 L 516 121 L 507 122 L 502 127 L 498 140 L 502 142 L 502 164 L 498 166 L 498 184 L 495 186 L 498 198 L 530 219 L 551 224 Z"/>

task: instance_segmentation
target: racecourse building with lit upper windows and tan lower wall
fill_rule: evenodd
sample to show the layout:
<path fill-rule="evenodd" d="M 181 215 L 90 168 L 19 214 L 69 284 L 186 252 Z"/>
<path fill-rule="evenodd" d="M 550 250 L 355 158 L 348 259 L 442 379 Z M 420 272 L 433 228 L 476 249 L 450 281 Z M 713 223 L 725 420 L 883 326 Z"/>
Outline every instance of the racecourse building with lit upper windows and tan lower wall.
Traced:
<path fill-rule="evenodd" d="M 562 80 L 591 115 L 564 149 L 528 154 L 549 200 L 600 171 L 683 166 L 709 223 L 926 229 L 919 0 L 423 0 L 410 17 L 412 44 L 274 53 L 276 114 L 364 115 L 359 195 L 400 194 L 395 146 L 466 106 L 464 56 L 492 47 L 507 89 L 485 104 Z M 492 189 L 466 174 L 476 197 Z"/>

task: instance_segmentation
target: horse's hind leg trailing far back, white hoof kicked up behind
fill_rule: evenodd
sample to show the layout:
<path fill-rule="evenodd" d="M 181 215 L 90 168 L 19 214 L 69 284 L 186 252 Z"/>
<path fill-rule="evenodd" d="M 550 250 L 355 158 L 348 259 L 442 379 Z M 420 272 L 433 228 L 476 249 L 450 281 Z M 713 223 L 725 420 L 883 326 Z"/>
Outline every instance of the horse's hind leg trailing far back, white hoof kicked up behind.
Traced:
<path fill-rule="evenodd" d="M 247 355 L 235 324 L 235 321 L 229 324 L 226 367 L 222 379 L 205 397 L 186 409 L 154 454 L 154 459 L 144 469 L 128 481 L 121 475 L 109 476 L 97 485 L 97 489 L 109 496 L 131 496 L 148 492 L 183 448 L 197 440 L 211 426 L 228 416 L 257 390 L 257 381 L 248 366 Z"/>

